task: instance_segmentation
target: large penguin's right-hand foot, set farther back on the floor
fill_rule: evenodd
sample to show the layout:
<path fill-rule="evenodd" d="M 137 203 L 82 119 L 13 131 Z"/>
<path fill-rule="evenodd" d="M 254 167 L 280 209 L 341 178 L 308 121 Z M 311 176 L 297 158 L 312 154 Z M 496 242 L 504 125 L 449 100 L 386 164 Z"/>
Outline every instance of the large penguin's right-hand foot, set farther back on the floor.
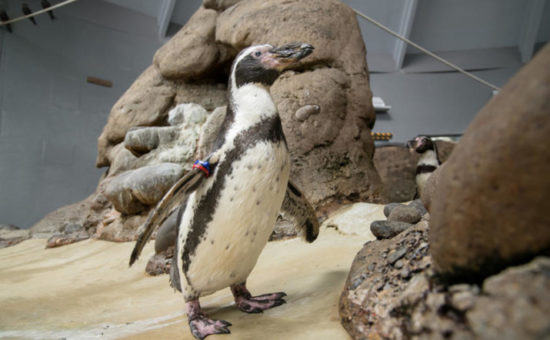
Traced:
<path fill-rule="evenodd" d="M 266 309 L 285 304 L 284 292 L 252 296 L 244 283 L 231 286 L 231 292 L 235 297 L 235 305 L 245 313 L 262 313 Z"/>

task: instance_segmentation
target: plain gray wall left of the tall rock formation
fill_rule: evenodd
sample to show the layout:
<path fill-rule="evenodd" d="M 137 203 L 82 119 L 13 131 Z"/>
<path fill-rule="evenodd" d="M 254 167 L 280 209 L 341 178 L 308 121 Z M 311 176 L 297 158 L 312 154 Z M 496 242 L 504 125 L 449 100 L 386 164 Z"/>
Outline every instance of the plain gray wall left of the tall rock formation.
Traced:
<path fill-rule="evenodd" d="M 81 0 L 57 11 L 56 21 L 40 16 L 38 26 L 26 20 L 13 34 L 0 31 L 0 223 L 30 227 L 95 190 L 104 171 L 95 168 L 97 137 L 110 108 L 161 44 L 140 31 L 145 16 L 125 14 L 113 29 L 105 13 L 118 21 L 117 10 Z"/>

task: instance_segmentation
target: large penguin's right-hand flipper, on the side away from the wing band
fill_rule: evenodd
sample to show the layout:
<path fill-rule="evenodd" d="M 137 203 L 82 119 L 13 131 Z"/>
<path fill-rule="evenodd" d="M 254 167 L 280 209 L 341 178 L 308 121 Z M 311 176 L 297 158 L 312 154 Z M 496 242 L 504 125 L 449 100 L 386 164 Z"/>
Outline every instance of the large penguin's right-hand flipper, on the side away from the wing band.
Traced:
<path fill-rule="evenodd" d="M 291 181 L 288 181 L 281 213 L 295 221 L 299 234 L 307 242 L 313 242 L 319 235 L 319 221 L 315 210 Z"/>

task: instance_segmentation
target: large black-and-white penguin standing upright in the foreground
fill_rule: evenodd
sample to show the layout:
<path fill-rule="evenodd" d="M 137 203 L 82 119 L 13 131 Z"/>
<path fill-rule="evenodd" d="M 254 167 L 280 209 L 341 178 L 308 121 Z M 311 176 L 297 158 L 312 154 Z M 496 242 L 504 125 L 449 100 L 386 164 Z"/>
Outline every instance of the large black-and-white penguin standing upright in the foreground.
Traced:
<path fill-rule="evenodd" d="M 197 339 L 230 333 L 231 326 L 208 318 L 200 307 L 201 296 L 230 287 L 236 307 L 246 313 L 285 303 L 284 292 L 252 296 L 246 279 L 267 244 L 289 188 L 289 151 L 269 87 L 285 68 L 312 52 L 309 44 L 292 43 L 251 46 L 237 55 L 229 77 L 229 106 L 207 162 L 169 190 L 136 242 L 130 264 L 152 233 L 151 221 L 177 211 L 170 281 L 184 296 L 189 327 Z M 292 197 L 303 196 L 292 189 Z M 174 201 L 184 203 L 174 209 Z M 318 229 L 307 219 L 302 224 L 311 230 L 306 239 L 314 239 Z"/>

